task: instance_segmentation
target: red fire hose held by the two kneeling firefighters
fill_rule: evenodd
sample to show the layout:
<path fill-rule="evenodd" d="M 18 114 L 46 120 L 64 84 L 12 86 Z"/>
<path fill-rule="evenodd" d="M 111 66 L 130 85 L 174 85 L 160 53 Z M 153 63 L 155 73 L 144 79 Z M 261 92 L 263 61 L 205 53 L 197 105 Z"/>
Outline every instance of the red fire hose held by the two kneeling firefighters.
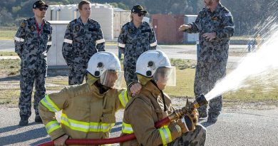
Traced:
<path fill-rule="evenodd" d="M 170 122 L 170 119 L 164 118 L 163 120 L 160 120 L 158 122 L 155 122 L 155 127 L 159 128 L 163 125 L 166 125 L 168 122 Z M 69 139 L 66 140 L 66 145 L 105 145 L 105 144 L 113 144 L 113 143 L 119 143 L 119 142 L 125 142 L 128 140 L 134 140 L 136 137 L 134 134 L 130 135 L 123 135 L 120 137 L 114 137 L 114 138 L 108 138 L 108 139 L 97 139 L 97 140 L 91 140 L 91 139 Z M 37 146 L 54 146 L 54 142 L 44 142 Z"/>

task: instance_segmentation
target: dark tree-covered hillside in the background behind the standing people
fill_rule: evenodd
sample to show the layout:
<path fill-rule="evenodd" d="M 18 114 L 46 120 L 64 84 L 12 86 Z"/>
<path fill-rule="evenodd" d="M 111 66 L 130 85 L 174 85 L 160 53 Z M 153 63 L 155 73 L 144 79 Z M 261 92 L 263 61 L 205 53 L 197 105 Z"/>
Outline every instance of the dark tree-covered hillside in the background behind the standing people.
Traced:
<path fill-rule="evenodd" d="M 80 0 L 48 0 L 47 4 L 78 4 Z M 120 9 L 129 10 L 135 4 L 140 4 L 152 14 L 197 14 L 204 6 L 201 0 L 95 0 L 92 3 L 108 3 Z M 18 24 L 16 18 L 28 18 L 34 16 L 31 5 L 34 0 L 9 0 L 0 1 L 0 24 L 11 26 Z M 263 27 L 263 23 L 269 16 L 274 15 L 278 2 L 269 0 L 222 0 L 221 3 L 230 9 L 235 21 L 235 34 L 253 35 Z M 276 18 L 277 19 L 277 18 Z"/>

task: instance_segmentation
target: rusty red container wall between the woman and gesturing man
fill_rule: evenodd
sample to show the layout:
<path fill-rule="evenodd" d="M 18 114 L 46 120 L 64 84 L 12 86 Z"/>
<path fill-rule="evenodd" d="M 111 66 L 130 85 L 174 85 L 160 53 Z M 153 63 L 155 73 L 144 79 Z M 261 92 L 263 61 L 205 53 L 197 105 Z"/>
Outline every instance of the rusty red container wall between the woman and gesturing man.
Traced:
<path fill-rule="evenodd" d="M 180 44 L 183 33 L 178 31 L 180 25 L 184 23 L 183 15 L 152 15 L 152 25 L 155 35 L 160 44 Z"/>

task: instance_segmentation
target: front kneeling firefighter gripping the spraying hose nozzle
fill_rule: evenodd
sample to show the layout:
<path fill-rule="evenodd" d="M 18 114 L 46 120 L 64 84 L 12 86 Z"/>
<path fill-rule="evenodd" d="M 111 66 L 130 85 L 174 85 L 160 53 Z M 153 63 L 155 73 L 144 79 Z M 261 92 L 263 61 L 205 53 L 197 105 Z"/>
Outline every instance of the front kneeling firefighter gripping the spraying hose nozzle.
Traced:
<path fill-rule="evenodd" d="M 142 89 L 126 105 L 122 127 L 122 135 L 134 133 L 136 140 L 120 145 L 205 145 L 206 130 L 197 124 L 196 109 L 180 120 L 155 127 L 155 122 L 174 111 L 163 93 L 165 85 L 175 85 L 175 68 L 165 53 L 152 50 L 140 55 L 136 73 Z"/>

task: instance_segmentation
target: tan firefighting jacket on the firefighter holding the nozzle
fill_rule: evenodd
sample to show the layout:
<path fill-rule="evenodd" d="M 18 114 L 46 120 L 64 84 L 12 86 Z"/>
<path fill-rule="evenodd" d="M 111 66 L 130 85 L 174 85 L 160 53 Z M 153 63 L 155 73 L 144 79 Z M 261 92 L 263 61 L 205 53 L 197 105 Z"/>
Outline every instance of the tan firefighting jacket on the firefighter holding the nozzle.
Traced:
<path fill-rule="evenodd" d="M 155 122 L 162 120 L 174 110 L 170 98 L 165 94 L 164 97 L 165 112 L 160 90 L 149 81 L 143 86 L 140 94 L 130 100 L 125 107 L 122 135 L 134 132 L 137 140 L 123 142 L 120 145 L 166 145 L 182 135 L 174 122 L 159 129 L 155 128 Z"/>

